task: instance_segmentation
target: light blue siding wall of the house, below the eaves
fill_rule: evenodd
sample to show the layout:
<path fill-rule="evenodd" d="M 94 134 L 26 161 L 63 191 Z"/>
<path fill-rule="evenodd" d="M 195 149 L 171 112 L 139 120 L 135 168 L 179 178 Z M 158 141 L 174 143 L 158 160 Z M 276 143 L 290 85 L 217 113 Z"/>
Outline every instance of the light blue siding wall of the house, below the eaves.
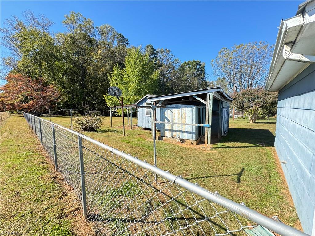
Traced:
<path fill-rule="evenodd" d="M 303 230 L 311 234 L 315 207 L 315 65 L 279 91 L 275 148 Z"/>

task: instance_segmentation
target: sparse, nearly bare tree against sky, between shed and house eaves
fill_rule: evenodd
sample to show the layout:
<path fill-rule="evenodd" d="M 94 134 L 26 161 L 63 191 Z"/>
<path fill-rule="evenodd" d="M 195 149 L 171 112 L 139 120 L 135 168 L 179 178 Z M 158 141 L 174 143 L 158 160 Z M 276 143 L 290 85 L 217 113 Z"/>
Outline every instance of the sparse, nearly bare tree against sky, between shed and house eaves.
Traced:
<path fill-rule="evenodd" d="M 215 76 L 225 80 L 230 94 L 261 87 L 266 81 L 273 46 L 266 42 L 249 42 L 222 48 L 212 68 Z"/>

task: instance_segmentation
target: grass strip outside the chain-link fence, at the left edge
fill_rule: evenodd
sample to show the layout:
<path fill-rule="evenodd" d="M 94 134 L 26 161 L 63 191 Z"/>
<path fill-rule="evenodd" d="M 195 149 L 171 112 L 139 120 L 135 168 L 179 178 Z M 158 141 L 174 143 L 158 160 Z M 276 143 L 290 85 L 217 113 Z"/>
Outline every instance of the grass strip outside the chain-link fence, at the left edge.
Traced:
<path fill-rule="evenodd" d="M 0 235 L 93 235 L 23 116 L 0 126 Z"/>

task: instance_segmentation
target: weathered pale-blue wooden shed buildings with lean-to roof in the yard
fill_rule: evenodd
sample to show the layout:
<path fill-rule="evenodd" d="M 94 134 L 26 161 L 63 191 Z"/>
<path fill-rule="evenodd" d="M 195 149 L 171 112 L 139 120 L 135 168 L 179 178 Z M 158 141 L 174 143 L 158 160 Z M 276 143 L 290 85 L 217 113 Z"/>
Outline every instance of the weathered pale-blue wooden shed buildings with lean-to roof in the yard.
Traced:
<path fill-rule="evenodd" d="M 227 134 L 231 101 L 232 98 L 221 87 L 161 96 L 146 95 L 135 104 L 139 107 L 138 126 L 152 128 L 151 105 L 155 104 L 160 139 L 184 139 L 196 144 L 204 137 L 205 142 L 209 140 L 210 143 L 211 135 L 221 138 Z"/>

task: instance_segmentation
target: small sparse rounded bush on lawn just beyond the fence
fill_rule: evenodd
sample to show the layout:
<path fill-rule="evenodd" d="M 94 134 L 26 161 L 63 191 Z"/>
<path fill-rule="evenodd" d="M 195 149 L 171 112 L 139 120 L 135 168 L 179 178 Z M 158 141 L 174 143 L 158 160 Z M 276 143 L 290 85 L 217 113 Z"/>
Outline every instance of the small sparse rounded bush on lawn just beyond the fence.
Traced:
<path fill-rule="evenodd" d="M 95 131 L 102 125 L 103 117 L 96 112 L 90 112 L 83 115 L 76 115 L 73 118 L 73 123 L 75 124 L 75 128 L 86 131 Z"/>

